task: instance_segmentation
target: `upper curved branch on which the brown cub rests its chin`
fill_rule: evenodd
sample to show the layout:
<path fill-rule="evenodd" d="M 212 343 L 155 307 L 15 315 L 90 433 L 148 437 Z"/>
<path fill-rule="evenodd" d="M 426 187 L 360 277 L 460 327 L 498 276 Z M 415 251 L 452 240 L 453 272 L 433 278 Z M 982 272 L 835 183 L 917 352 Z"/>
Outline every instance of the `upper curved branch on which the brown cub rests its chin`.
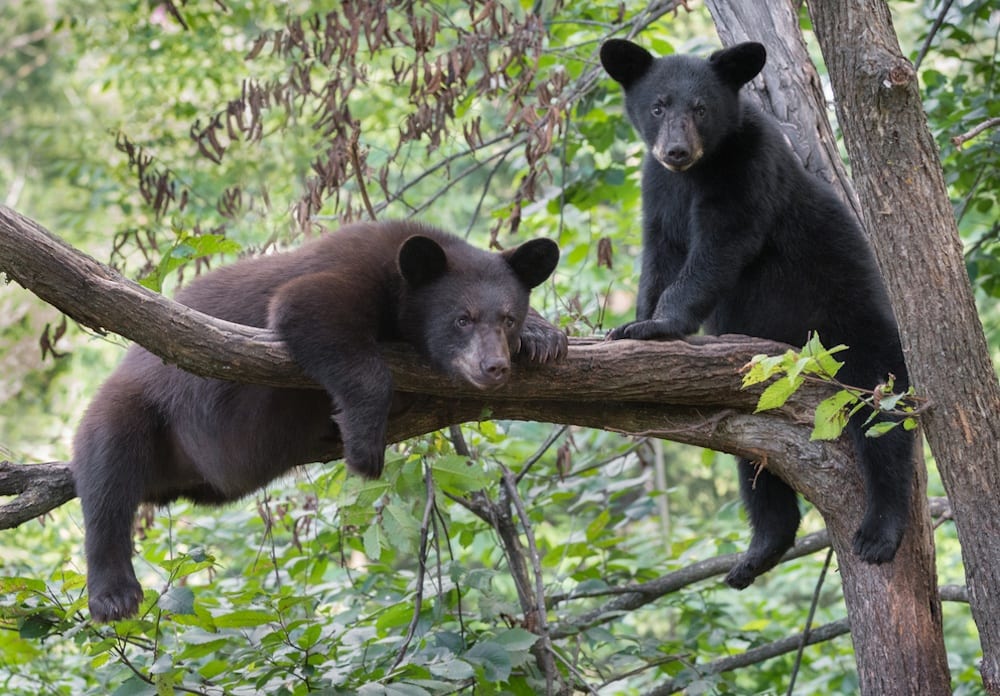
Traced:
<path fill-rule="evenodd" d="M 273 331 L 217 319 L 151 292 L 4 206 L 0 271 L 81 324 L 130 338 L 189 372 L 270 386 L 316 386 Z M 757 353 L 785 348 L 742 336 L 655 344 L 578 339 L 564 362 L 544 369 L 522 363 L 512 383 L 489 396 L 746 408 L 756 396 L 740 391 L 739 367 Z M 386 346 L 384 354 L 400 391 L 482 396 L 436 375 L 404 346 Z"/>

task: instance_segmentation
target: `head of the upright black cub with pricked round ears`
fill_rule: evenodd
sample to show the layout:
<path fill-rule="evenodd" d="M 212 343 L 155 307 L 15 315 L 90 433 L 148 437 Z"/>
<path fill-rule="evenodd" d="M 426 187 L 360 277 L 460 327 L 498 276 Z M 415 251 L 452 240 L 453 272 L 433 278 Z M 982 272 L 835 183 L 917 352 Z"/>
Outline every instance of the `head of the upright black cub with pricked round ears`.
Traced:
<path fill-rule="evenodd" d="M 739 89 L 766 60 L 764 47 L 753 42 L 716 51 L 708 60 L 654 58 L 624 39 L 601 46 L 601 65 L 625 89 L 632 125 L 652 156 L 675 172 L 697 164 L 739 128 Z"/>

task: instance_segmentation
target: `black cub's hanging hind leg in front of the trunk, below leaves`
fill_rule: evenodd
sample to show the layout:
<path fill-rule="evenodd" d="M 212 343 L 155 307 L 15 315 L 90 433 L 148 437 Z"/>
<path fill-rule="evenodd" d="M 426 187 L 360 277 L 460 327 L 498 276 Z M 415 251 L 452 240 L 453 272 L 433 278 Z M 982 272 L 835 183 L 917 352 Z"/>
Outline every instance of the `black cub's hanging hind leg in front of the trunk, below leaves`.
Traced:
<path fill-rule="evenodd" d="M 865 516 L 854 535 L 854 552 L 866 563 L 888 563 L 903 540 L 910 514 L 915 438 L 902 426 L 881 437 L 866 437 L 858 417 L 848 430 L 865 480 Z"/>

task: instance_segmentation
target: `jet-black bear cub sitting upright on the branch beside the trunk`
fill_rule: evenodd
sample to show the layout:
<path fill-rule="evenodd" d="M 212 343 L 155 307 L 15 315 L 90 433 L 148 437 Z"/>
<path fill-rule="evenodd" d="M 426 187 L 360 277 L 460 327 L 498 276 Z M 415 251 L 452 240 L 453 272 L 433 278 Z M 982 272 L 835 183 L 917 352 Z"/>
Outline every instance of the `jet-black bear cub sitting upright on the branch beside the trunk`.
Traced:
<path fill-rule="evenodd" d="M 601 47 L 648 148 L 636 321 L 610 338 L 675 339 L 704 326 L 803 345 L 817 331 L 826 345 L 850 348 L 839 379 L 871 388 L 892 374 L 906 389 L 895 319 L 858 223 L 806 172 L 777 124 L 740 96 L 764 61 L 758 43 L 708 60 L 654 58 L 620 39 Z M 866 486 L 854 551 L 885 563 L 906 528 L 914 436 L 895 428 L 868 438 L 867 415 L 848 425 Z M 726 582 L 743 588 L 794 543 L 799 509 L 780 478 L 746 460 L 739 471 L 753 535 Z"/>

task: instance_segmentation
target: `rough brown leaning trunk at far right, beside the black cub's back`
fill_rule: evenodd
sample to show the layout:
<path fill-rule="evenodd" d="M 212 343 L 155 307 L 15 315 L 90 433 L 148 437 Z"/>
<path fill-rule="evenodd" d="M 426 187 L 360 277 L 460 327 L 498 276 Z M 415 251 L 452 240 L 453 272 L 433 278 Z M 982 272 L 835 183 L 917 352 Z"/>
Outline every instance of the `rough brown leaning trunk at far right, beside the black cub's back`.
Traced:
<path fill-rule="evenodd" d="M 1000 385 L 965 270 L 938 146 L 883 0 L 814 0 L 875 251 L 955 514 L 987 693 L 1000 694 Z"/>

